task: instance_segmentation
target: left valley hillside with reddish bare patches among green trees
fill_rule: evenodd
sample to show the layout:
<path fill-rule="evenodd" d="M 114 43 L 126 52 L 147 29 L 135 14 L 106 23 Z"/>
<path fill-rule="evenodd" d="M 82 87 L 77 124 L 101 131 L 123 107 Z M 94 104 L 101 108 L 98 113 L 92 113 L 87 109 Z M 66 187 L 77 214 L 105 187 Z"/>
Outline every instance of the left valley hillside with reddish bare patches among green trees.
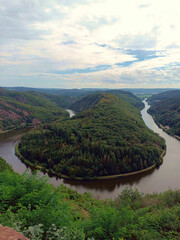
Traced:
<path fill-rule="evenodd" d="M 37 125 L 67 116 L 60 108 L 73 99 L 35 92 L 15 92 L 0 88 L 0 131 Z"/>

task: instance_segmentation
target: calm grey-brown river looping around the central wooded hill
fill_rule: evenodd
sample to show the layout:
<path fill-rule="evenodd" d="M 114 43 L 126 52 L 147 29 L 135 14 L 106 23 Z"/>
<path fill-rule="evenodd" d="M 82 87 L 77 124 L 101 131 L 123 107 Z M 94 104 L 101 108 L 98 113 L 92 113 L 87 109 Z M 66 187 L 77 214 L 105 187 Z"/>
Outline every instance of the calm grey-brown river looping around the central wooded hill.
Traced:
<path fill-rule="evenodd" d="M 163 164 L 158 169 L 134 176 L 109 180 L 78 181 L 50 177 L 49 182 L 55 186 L 64 184 L 77 190 L 79 193 L 89 191 L 98 199 L 114 199 L 127 186 L 134 189 L 137 188 L 140 192 L 144 193 L 163 192 L 169 188 L 179 189 L 180 141 L 167 135 L 155 124 L 153 118 L 147 113 L 147 109 L 149 108 L 147 102 L 144 101 L 144 103 L 145 108 L 141 111 L 141 114 L 145 124 L 166 140 L 167 152 Z M 0 135 L 0 156 L 6 159 L 18 173 L 22 173 L 27 169 L 26 165 L 15 156 L 14 151 L 16 144 L 19 143 L 25 131 L 27 130 L 16 130 Z"/>

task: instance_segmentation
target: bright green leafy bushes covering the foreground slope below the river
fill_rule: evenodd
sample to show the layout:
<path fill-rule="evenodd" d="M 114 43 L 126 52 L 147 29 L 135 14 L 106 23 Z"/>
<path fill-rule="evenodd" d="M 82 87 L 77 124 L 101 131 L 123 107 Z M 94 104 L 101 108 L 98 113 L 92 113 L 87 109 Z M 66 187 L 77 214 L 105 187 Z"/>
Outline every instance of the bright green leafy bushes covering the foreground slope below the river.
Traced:
<path fill-rule="evenodd" d="M 102 201 L 9 168 L 0 168 L 0 223 L 31 240 L 180 239 L 180 190 L 126 188 L 114 201 Z"/>

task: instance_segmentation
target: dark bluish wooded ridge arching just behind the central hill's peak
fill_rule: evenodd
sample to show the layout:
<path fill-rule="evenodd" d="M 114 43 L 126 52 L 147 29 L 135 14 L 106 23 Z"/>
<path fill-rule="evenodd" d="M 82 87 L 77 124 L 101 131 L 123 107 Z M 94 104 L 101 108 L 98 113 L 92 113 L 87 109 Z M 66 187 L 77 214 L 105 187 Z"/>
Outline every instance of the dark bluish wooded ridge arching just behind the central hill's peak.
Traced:
<path fill-rule="evenodd" d="M 89 94 L 88 96 L 81 98 L 79 101 L 72 104 L 70 106 L 70 109 L 74 110 L 75 112 L 84 111 L 97 104 L 99 100 L 104 96 L 104 93 L 112 93 L 116 95 L 119 99 L 129 102 L 134 107 L 137 107 L 139 109 L 142 109 L 144 106 L 142 101 L 130 92 L 123 90 L 108 90 L 105 92 Z"/>

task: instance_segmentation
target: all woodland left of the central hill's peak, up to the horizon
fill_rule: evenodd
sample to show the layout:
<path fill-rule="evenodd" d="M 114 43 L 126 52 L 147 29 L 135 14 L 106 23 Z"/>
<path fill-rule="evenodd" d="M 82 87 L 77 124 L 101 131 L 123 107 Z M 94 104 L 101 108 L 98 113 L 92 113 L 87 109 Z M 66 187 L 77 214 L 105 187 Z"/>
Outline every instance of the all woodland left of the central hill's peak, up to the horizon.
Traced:
<path fill-rule="evenodd" d="M 23 87 L 9 89 L 0 88 L 0 132 L 68 117 L 63 109 L 71 106 L 73 108 L 75 102 L 91 92 L 104 91 L 104 89 L 34 89 Z"/>

